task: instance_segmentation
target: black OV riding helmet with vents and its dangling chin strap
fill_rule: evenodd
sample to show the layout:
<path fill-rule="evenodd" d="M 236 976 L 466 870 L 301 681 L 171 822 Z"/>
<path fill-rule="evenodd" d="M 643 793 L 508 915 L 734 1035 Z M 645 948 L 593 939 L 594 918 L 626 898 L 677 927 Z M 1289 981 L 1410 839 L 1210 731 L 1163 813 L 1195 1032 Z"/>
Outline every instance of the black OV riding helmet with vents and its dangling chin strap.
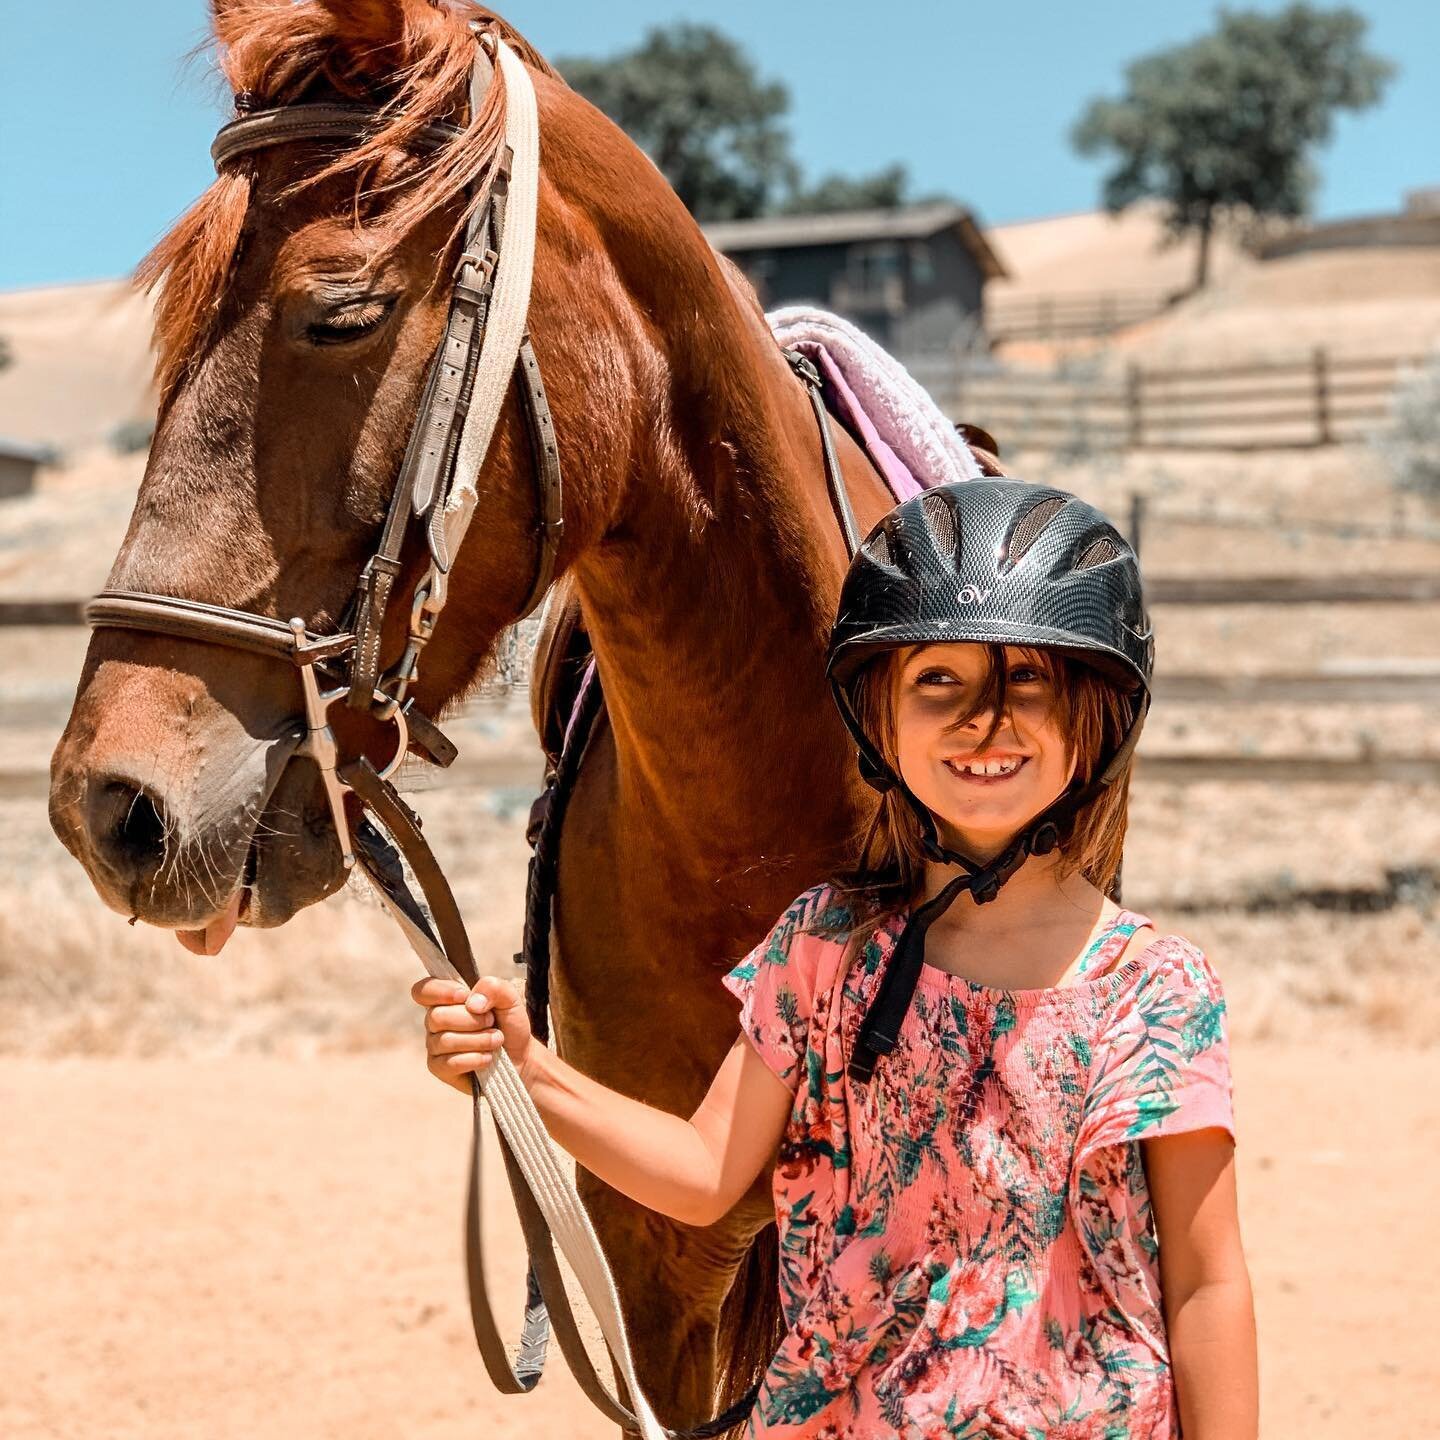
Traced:
<path fill-rule="evenodd" d="M 1027 645 L 1092 665 L 1130 691 L 1128 732 L 1087 782 L 1076 782 L 989 864 L 949 850 L 935 816 L 888 766 L 852 701 L 865 662 L 901 645 Z M 978 904 L 1030 855 L 1063 844 L 1079 812 L 1115 782 L 1149 707 L 1155 639 L 1135 550 L 1093 505 L 1047 485 L 968 480 L 896 505 L 851 560 L 829 638 L 827 672 L 860 747 L 861 775 L 914 809 L 926 854 L 965 874 L 910 917 L 855 1044 L 850 1070 L 868 1079 L 894 1047 L 924 959 L 924 933 L 969 891 Z"/>

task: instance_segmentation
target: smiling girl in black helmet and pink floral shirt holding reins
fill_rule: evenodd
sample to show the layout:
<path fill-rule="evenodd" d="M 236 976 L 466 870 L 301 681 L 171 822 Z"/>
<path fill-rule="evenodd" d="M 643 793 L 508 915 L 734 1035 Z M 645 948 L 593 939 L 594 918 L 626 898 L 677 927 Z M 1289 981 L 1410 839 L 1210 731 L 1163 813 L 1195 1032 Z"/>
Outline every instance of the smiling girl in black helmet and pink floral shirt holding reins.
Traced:
<path fill-rule="evenodd" d="M 566 1066 L 503 981 L 415 988 L 433 1074 L 504 1045 L 634 1200 L 704 1225 L 772 1174 L 788 1328 L 750 1434 L 1253 1440 L 1220 981 L 1117 903 L 1152 658 L 1099 511 L 929 491 L 831 635 L 876 824 L 724 978 L 740 1034 L 693 1116 Z"/>

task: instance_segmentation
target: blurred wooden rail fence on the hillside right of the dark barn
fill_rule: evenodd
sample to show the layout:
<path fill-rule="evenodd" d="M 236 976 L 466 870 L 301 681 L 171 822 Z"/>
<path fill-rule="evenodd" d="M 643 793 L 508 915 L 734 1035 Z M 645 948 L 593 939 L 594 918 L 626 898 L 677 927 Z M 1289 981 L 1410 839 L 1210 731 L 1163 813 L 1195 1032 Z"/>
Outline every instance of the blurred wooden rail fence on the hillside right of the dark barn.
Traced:
<path fill-rule="evenodd" d="M 955 419 L 1014 449 L 1286 449 L 1372 433 L 1420 356 L 1335 356 L 1119 373 L 979 370 L 916 357 L 914 377 Z"/>

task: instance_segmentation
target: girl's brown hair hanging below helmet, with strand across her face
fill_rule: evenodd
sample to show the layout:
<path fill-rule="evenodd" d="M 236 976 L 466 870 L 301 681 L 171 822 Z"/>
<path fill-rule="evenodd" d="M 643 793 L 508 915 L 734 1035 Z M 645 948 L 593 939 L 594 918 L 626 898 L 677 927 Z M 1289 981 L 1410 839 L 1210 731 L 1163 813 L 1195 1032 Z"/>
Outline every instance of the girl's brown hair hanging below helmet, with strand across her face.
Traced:
<path fill-rule="evenodd" d="M 956 721 L 963 724 L 988 713 L 991 724 L 978 749 L 995 737 L 1008 708 L 1007 665 L 1002 645 L 986 645 L 988 672 L 975 704 Z M 896 756 L 894 691 L 907 649 L 883 651 L 851 681 L 851 700 L 865 734 L 890 769 L 899 775 Z M 1040 670 L 1056 694 L 1056 721 L 1066 739 L 1067 756 L 1076 757 L 1074 783 L 1084 785 L 1119 749 L 1135 717 L 1135 700 L 1116 681 L 1070 655 L 1025 649 L 1025 662 Z M 1129 824 L 1130 769 L 1107 785 L 1076 816 L 1061 847 L 1060 874 L 1079 871 L 1097 890 L 1119 899 L 1120 854 Z M 854 870 L 837 880 L 851 901 L 857 923 L 890 909 L 912 904 L 924 881 L 920 821 L 910 801 L 896 788 L 880 799 L 865 832 Z"/>

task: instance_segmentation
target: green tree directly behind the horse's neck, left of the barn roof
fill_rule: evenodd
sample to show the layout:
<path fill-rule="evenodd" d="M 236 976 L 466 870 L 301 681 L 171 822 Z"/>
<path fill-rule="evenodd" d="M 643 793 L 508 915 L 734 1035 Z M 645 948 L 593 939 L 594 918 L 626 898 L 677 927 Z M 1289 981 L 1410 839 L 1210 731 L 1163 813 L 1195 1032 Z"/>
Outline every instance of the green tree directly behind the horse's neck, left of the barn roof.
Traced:
<path fill-rule="evenodd" d="M 789 92 L 762 81 L 713 26 L 657 27 L 624 55 L 557 68 L 645 150 L 696 219 L 750 219 L 793 189 Z"/>

